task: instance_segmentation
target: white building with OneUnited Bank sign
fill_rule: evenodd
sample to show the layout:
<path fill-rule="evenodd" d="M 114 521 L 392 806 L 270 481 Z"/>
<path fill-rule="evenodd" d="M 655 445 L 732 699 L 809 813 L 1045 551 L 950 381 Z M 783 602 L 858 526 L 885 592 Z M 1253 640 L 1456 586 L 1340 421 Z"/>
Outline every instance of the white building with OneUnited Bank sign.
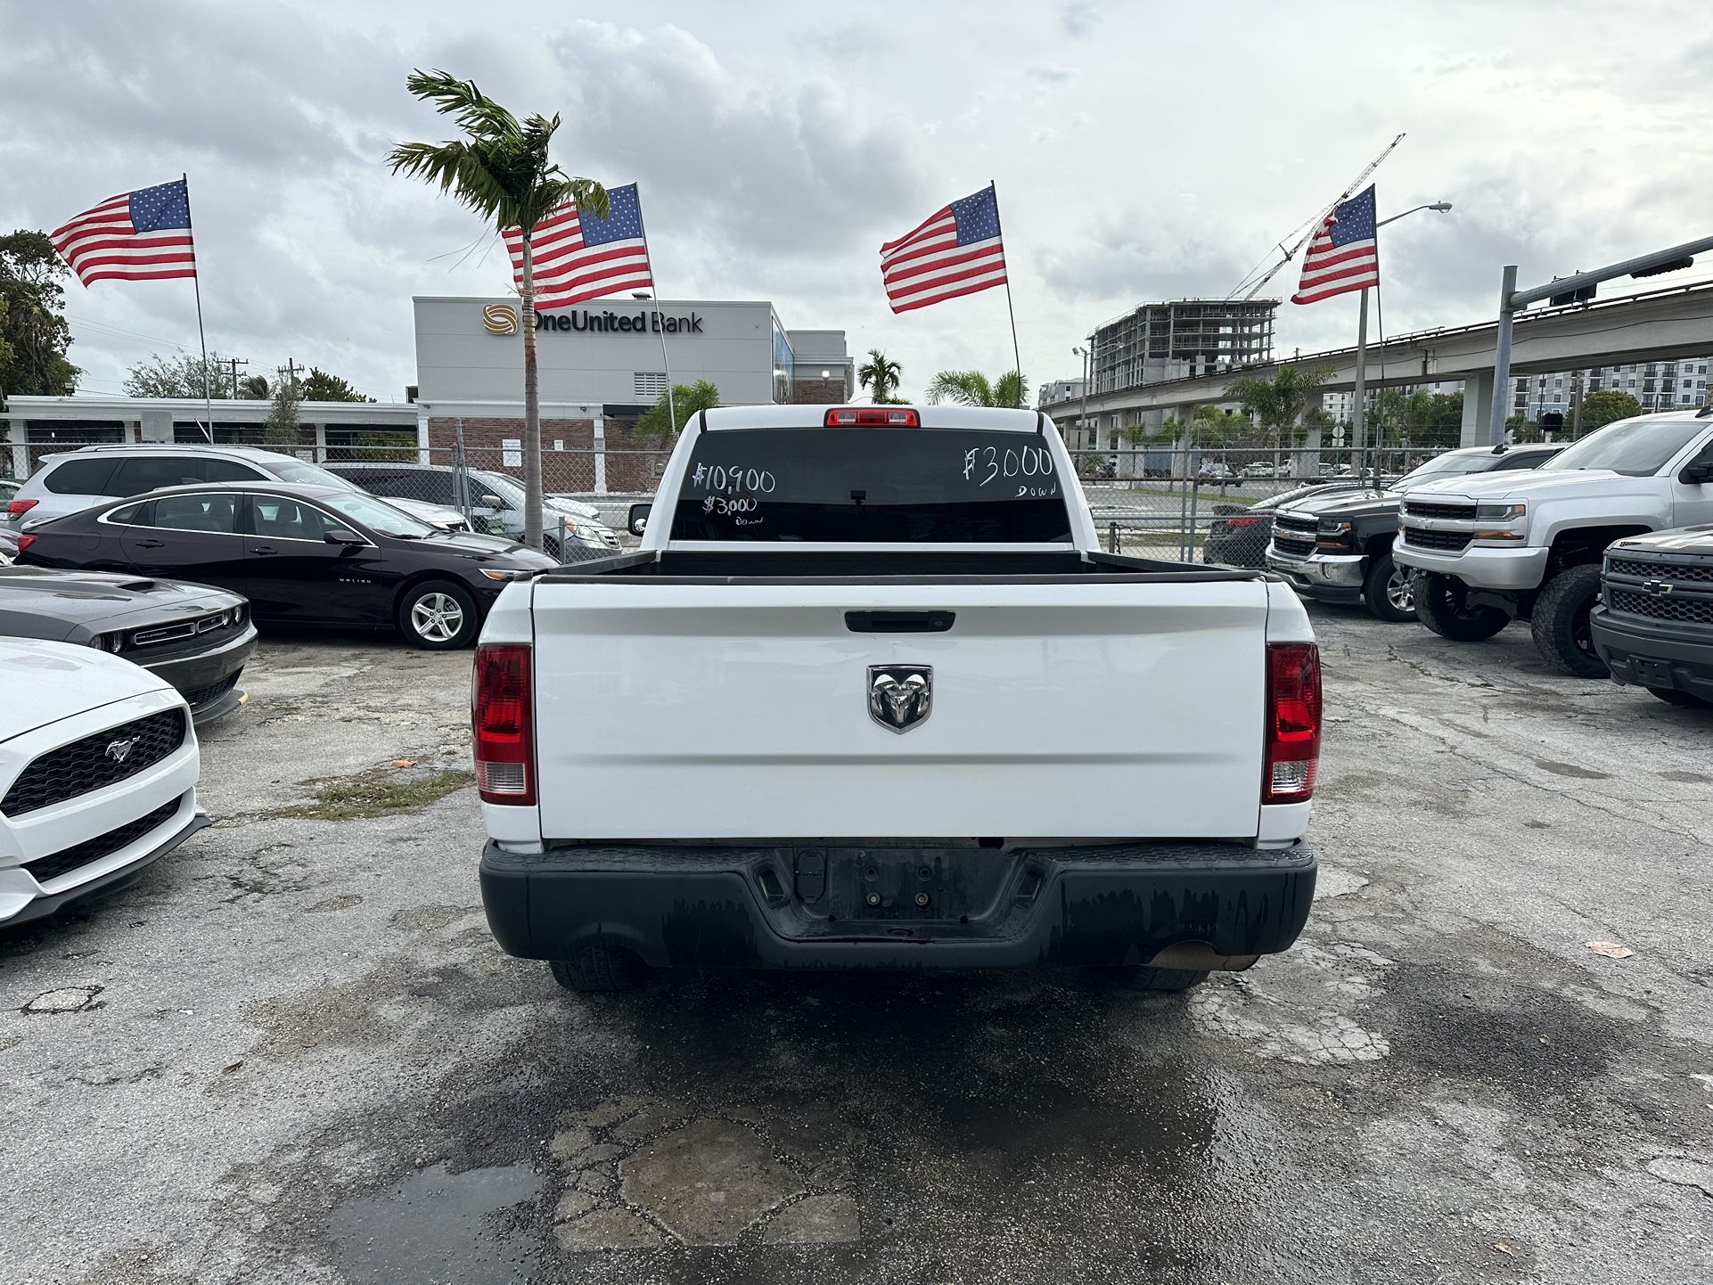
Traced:
<path fill-rule="evenodd" d="M 459 433 L 471 461 L 516 457 L 522 420 L 522 326 L 516 298 L 427 298 L 416 314 L 416 413 L 439 457 Z M 766 302 L 591 300 L 536 314 L 541 445 L 589 476 L 565 490 L 653 487 L 665 457 L 632 427 L 673 384 L 707 380 L 725 406 L 838 403 L 853 396 L 845 331 L 788 331 Z"/>

